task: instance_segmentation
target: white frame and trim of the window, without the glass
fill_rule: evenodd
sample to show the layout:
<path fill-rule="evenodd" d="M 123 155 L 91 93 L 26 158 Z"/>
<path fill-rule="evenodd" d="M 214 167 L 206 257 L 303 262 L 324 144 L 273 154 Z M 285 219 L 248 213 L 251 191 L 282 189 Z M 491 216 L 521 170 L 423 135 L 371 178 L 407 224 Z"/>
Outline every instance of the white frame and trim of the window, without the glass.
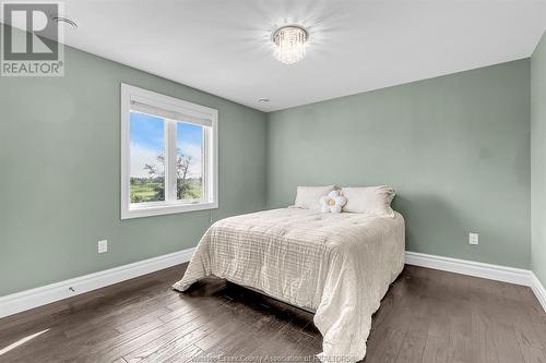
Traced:
<path fill-rule="evenodd" d="M 211 126 L 204 132 L 203 185 L 204 202 L 188 203 L 176 199 L 176 171 L 168 168 L 169 155 L 176 155 L 176 132 L 166 133 L 175 141 L 165 144 L 165 202 L 131 203 L 130 182 L 130 114 L 132 102 L 139 101 L 152 107 L 182 116 L 176 121 L 206 120 Z M 165 120 L 165 128 L 176 128 L 175 122 Z M 174 154 L 173 154 L 174 153 Z M 175 195 L 175 199 L 168 195 Z M 165 96 L 155 92 L 121 84 L 121 219 L 170 215 L 176 213 L 215 209 L 218 207 L 218 110 Z"/>

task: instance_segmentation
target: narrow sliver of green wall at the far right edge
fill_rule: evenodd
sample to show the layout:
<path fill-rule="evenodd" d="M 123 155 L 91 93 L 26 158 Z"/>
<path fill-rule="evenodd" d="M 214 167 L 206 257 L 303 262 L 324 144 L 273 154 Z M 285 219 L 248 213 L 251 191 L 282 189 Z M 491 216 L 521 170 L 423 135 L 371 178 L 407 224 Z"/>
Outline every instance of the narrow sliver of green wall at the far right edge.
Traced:
<path fill-rule="evenodd" d="M 531 58 L 532 265 L 546 286 L 546 35 Z"/>

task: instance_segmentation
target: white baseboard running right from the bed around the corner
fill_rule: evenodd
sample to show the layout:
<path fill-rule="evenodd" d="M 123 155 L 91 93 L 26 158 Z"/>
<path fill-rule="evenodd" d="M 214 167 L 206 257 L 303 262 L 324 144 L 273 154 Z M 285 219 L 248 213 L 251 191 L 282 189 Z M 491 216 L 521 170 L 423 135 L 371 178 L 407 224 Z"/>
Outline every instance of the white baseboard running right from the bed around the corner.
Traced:
<path fill-rule="evenodd" d="M 529 286 L 546 312 L 546 290 L 532 270 L 406 251 L 407 265 Z"/>

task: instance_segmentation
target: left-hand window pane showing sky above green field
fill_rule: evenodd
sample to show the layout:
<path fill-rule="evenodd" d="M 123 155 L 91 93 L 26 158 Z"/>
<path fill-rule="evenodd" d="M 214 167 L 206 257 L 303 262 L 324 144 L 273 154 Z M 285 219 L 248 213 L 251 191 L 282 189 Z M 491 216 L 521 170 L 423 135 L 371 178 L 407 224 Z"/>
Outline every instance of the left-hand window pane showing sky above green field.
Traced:
<path fill-rule="evenodd" d="M 131 203 L 165 201 L 165 121 L 131 111 L 130 130 Z"/>

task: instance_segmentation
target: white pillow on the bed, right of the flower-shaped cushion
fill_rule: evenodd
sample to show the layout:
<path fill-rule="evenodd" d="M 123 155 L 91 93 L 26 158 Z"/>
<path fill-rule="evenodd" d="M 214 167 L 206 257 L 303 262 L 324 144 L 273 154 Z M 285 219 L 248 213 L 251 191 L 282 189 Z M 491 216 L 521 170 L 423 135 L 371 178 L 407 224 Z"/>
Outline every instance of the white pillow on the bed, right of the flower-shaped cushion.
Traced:
<path fill-rule="evenodd" d="M 342 187 L 342 194 L 347 198 L 343 211 L 394 217 L 391 202 L 395 193 L 390 186 Z"/>

